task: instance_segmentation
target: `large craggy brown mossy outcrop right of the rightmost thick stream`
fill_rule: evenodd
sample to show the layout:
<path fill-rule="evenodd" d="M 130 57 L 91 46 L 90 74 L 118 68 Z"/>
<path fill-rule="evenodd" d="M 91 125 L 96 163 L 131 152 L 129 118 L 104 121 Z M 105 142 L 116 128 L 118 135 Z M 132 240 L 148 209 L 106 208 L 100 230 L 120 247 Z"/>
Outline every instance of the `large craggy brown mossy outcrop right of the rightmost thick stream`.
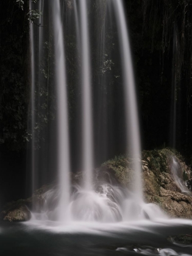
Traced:
<path fill-rule="evenodd" d="M 191 170 L 178 152 L 169 149 L 144 151 L 143 158 L 148 162 L 148 170 L 144 169 L 144 197 L 146 202 L 160 205 L 171 217 L 192 218 L 192 197 L 185 195 L 171 173 L 171 156 L 176 157 L 179 168 L 191 177 Z M 186 188 L 187 190 L 187 188 Z"/>

